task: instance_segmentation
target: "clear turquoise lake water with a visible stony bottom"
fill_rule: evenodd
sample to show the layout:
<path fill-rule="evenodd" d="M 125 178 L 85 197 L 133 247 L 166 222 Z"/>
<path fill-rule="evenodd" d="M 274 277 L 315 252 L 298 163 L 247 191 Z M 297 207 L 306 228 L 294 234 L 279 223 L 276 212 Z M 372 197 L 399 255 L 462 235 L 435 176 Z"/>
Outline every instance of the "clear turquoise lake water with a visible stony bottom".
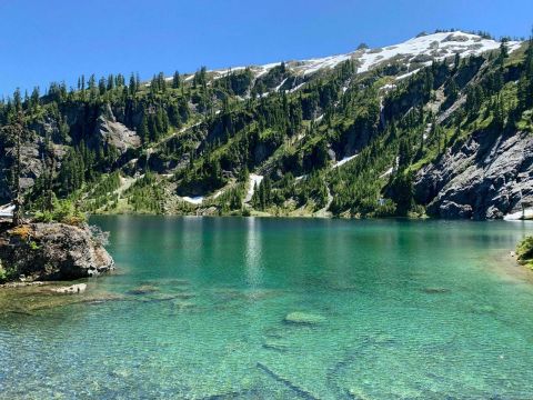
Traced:
<path fill-rule="evenodd" d="M 121 298 L 0 317 L 1 399 L 533 398 L 533 224 L 92 222 Z"/>

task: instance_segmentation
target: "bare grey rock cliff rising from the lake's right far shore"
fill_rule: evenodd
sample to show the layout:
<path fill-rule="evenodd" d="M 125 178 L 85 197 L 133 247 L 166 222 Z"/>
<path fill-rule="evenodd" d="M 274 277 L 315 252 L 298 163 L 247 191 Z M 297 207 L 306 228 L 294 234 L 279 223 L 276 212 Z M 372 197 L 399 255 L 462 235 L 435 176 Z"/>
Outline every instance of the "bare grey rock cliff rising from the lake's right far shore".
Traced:
<path fill-rule="evenodd" d="M 533 204 L 533 136 L 476 132 L 421 169 L 415 199 L 441 218 L 497 219 Z"/>

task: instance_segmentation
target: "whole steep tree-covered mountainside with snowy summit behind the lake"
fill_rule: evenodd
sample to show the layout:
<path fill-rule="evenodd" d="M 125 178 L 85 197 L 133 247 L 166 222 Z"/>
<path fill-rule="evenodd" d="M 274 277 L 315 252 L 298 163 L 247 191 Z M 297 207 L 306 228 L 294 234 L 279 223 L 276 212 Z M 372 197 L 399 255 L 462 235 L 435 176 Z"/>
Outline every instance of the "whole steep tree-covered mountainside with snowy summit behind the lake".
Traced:
<path fill-rule="evenodd" d="M 0 103 L 31 208 L 502 218 L 532 199 L 532 47 L 460 31 Z M 9 200 L 14 141 L 0 137 Z M 3 176 L 2 176 L 3 173 Z M 49 203 L 49 201 L 48 201 Z"/>

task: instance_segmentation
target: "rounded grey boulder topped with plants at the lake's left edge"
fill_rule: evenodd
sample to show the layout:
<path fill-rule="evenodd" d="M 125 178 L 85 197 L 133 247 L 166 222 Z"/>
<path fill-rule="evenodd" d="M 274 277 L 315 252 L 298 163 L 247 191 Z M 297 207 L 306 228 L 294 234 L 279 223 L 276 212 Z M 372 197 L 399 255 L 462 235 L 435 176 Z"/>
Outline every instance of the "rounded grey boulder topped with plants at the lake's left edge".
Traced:
<path fill-rule="evenodd" d="M 89 227 L 63 223 L 0 226 L 0 261 L 11 278 L 70 280 L 113 269 L 113 259 Z"/>

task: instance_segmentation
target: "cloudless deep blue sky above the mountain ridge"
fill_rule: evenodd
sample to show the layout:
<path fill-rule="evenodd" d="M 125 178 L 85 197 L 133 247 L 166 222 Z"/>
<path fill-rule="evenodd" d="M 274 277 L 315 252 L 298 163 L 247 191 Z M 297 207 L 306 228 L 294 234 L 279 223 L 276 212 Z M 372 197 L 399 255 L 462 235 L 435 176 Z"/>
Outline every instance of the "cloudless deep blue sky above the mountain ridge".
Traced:
<path fill-rule="evenodd" d="M 438 28 L 526 37 L 532 24 L 533 0 L 0 0 L 0 96 L 82 73 L 330 56 Z"/>

